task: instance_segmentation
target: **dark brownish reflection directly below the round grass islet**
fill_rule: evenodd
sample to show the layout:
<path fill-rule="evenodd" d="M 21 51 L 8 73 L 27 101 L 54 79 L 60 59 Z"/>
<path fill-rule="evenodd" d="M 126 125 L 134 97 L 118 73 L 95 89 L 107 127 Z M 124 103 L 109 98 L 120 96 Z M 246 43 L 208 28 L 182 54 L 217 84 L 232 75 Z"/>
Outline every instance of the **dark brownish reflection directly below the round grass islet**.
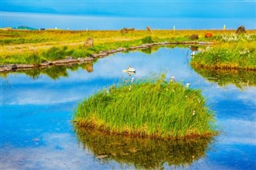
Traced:
<path fill-rule="evenodd" d="M 135 168 L 163 168 L 163 164 L 186 166 L 206 156 L 212 138 L 160 140 L 114 136 L 86 128 L 74 128 L 79 144 L 104 164 L 115 160 Z"/>

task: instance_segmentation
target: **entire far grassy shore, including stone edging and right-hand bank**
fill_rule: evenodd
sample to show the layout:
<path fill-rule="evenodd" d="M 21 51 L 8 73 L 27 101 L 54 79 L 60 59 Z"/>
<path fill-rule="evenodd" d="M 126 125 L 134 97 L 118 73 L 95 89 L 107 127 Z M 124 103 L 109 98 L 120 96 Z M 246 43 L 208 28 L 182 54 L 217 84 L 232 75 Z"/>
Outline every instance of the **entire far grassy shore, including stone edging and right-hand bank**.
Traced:
<path fill-rule="evenodd" d="M 193 57 L 197 68 L 256 70 L 256 30 L 0 30 L 0 35 L 0 72 L 78 64 L 165 45 L 212 46 Z"/>

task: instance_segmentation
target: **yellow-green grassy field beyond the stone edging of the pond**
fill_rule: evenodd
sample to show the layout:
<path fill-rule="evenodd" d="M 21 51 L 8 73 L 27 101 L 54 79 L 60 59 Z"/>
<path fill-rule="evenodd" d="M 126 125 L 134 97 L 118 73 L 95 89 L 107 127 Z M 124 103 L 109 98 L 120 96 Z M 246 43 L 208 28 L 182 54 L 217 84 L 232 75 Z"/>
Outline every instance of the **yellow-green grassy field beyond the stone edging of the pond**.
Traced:
<path fill-rule="evenodd" d="M 206 32 L 214 34 L 213 38 L 204 38 Z M 0 30 L 0 64 L 35 64 L 42 61 L 55 61 L 66 56 L 88 57 L 118 47 L 130 47 L 149 42 L 184 42 L 190 41 L 191 34 L 198 34 L 201 42 L 222 42 L 222 34 L 232 34 L 234 30 L 136 30 L 122 34 L 119 30 L 106 31 L 18 31 Z M 248 31 L 248 34 L 255 31 Z M 87 38 L 94 38 L 94 47 L 84 46 Z M 221 44 L 219 43 L 219 45 Z M 225 46 L 223 46 L 225 47 Z M 254 48 L 253 48 L 254 49 Z M 194 63 L 196 63 L 194 61 Z M 199 64 L 198 64 L 199 65 Z"/>

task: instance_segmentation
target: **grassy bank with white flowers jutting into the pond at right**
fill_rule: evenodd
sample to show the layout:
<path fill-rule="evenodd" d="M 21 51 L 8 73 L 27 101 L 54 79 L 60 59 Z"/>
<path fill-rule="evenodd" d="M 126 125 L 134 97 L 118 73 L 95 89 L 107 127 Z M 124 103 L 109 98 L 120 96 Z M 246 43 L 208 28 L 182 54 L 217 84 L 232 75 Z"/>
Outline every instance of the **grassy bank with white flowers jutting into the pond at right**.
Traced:
<path fill-rule="evenodd" d="M 194 68 L 256 70 L 256 34 L 223 34 L 216 40 L 220 43 L 192 59 Z"/>

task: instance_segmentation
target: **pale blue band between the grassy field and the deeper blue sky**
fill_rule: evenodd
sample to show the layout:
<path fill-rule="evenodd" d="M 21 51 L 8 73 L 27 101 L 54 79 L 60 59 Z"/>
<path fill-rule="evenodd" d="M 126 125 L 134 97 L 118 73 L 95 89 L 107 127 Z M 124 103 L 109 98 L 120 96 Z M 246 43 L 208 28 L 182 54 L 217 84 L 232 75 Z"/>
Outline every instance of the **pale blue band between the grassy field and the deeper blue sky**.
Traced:
<path fill-rule="evenodd" d="M 245 26 L 255 30 L 255 18 L 127 18 L 108 16 L 79 16 L 67 14 L 34 14 L 2 12 L 2 27 L 32 26 L 34 28 L 60 28 L 63 30 L 121 30 L 123 27 L 146 30 L 222 30 Z"/>

